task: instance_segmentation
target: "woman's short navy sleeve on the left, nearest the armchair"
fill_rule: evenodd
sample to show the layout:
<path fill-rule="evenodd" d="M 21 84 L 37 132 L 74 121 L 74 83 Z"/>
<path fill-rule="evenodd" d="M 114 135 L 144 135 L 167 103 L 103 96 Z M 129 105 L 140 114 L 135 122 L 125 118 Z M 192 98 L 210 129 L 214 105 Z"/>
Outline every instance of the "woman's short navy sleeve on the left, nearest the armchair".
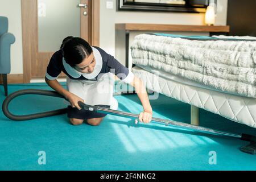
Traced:
<path fill-rule="evenodd" d="M 55 52 L 51 59 L 49 60 L 49 64 L 46 69 L 46 78 L 48 80 L 55 80 L 61 73 L 61 61 L 62 54 L 61 51 Z"/>

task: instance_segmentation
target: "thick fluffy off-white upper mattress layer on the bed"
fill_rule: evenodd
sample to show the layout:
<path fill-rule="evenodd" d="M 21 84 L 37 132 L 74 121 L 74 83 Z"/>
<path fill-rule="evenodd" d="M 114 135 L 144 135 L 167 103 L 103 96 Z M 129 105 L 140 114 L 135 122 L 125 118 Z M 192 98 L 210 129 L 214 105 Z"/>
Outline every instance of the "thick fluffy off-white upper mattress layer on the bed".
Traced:
<path fill-rule="evenodd" d="M 187 78 L 221 92 L 256 98 L 256 41 L 170 34 L 137 35 L 133 64 Z"/>

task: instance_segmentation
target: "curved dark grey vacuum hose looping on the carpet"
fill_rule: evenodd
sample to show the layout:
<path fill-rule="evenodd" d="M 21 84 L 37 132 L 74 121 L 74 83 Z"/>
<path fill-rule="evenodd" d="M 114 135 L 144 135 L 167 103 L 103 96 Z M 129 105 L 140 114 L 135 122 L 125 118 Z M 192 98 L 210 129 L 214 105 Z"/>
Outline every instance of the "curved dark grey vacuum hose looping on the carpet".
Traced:
<path fill-rule="evenodd" d="M 27 114 L 27 115 L 11 114 L 8 109 L 8 106 L 9 106 L 11 100 L 13 100 L 15 97 L 27 95 L 27 94 L 37 94 L 37 95 L 43 95 L 43 96 L 65 98 L 64 96 L 57 93 L 56 91 L 51 91 L 51 90 L 39 90 L 39 89 L 19 90 L 14 93 L 11 93 L 8 97 L 6 97 L 5 101 L 3 101 L 3 105 L 2 105 L 3 114 L 5 114 L 5 116 L 9 119 L 12 119 L 15 121 L 23 121 L 23 120 L 28 120 L 28 119 L 43 118 L 43 117 L 49 117 L 52 115 L 67 113 L 67 108 L 63 108 L 63 109 L 46 111 L 44 113 L 36 113 L 36 114 Z"/>

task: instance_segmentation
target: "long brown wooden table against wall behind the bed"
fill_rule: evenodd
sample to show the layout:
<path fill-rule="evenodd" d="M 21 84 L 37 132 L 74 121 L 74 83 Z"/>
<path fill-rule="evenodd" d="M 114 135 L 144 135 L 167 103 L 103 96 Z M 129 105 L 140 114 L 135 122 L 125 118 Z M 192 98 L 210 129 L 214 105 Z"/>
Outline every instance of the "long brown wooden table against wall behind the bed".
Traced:
<path fill-rule="evenodd" d="M 229 26 L 117 23 L 115 24 L 115 50 L 125 49 L 125 66 L 129 68 L 129 37 L 131 31 L 209 32 L 212 36 L 228 35 L 229 29 Z M 117 54 L 116 57 L 118 59 Z"/>

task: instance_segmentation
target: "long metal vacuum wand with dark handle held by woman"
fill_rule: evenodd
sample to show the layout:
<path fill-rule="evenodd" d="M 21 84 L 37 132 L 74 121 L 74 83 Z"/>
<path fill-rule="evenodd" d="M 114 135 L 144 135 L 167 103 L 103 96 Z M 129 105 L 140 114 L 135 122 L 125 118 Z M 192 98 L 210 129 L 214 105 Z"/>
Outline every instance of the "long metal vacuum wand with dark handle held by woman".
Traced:
<path fill-rule="evenodd" d="M 86 105 L 81 101 L 79 101 L 79 106 L 85 110 L 96 111 L 98 113 L 112 114 L 112 115 L 117 115 L 117 116 L 126 117 L 126 118 L 138 118 L 139 117 L 139 114 L 133 114 L 133 113 L 125 112 L 125 111 L 108 109 L 106 107 Z M 200 131 L 201 133 L 222 135 L 222 136 L 226 136 L 226 137 L 239 138 L 239 139 L 246 140 L 249 142 L 256 142 L 256 137 L 254 137 L 253 135 L 228 133 L 225 131 L 209 129 L 207 127 L 191 125 L 191 124 L 183 123 L 183 122 L 171 121 L 169 119 L 160 119 L 160 118 L 153 117 L 152 121 L 155 121 L 158 123 L 164 123 L 166 126 L 172 125 L 172 126 L 176 126 L 176 127 L 185 128 L 185 129 L 192 129 L 195 131 Z"/>

